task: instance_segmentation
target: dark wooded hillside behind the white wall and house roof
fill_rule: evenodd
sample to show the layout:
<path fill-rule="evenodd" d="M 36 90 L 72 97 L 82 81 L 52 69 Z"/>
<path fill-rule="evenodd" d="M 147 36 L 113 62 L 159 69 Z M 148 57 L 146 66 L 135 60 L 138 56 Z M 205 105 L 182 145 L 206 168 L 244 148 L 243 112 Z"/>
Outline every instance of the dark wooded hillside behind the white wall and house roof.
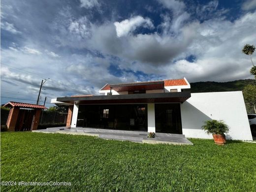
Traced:
<path fill-rule="evenodd" d="M 254 79 L 244 79 L 229 82 L 195 82 L 190 83 L 191 93 L 201 93 L 201 92 L 224 92 L 224 91 L 242 91 L 244 87 L 248 84 L 255 84 Z"/>

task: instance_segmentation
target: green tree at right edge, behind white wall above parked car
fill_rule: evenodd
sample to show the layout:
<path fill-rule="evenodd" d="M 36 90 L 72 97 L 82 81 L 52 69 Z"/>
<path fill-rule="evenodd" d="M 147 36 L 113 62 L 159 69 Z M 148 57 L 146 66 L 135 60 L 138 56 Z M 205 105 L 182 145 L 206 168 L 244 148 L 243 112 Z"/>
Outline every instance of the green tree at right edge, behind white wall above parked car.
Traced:
<path fill-rule="evenodd" d="M 243 90 L 247 113 L 256 113 L 256 85 L 247 85 Z"/>

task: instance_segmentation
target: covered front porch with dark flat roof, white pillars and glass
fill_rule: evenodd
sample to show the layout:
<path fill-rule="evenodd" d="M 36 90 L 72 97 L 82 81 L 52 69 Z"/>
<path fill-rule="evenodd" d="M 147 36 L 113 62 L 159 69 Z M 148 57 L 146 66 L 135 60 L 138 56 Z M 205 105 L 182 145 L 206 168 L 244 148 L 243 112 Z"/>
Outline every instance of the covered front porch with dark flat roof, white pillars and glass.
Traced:
<path fill-rule="evenodd" d="M 69 106 L 70 127 L 182 134 L 180 103 L 190 92 L 58 97 Z M 67 125 L 68 126 L 68 125 Z"/>

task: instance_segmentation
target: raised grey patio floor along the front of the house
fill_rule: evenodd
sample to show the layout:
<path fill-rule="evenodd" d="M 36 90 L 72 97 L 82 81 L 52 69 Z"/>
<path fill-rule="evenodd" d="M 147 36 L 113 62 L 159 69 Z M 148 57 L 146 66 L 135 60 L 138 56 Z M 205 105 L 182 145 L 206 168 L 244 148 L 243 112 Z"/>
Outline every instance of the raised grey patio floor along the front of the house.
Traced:
<path fill-rule="evenodd" d="M 129 130 L 114 130 L 114 129 L 100 129 L 100 128 L 46 128 L 39 130 L 32 130 L 32 132 L 42 133 L 62 133 L 73 135 L 89 135 L 96 136 L 102 139 L 113 139 L 121 141 L 132 141 L 139 143 L 150 144 L 174 144 L 174 145 L 193 145 L 183 134 L 171 133 L 156 133 L 155 138 L 148 138 L 146 131 L 129 131 Z"/>

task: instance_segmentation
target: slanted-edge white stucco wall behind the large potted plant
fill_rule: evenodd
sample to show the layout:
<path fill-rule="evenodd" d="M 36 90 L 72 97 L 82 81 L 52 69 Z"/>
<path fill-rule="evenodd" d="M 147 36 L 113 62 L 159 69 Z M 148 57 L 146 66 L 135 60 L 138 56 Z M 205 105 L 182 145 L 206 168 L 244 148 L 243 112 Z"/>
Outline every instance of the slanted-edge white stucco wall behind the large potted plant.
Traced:
<path fill-rule="evenodd" d="M 242 92 L 195 93 L 181 104 L 182 132 L 186 137 L 212 138 L 201 129 L 204 121 L 224 120 L 227 139 L 252 140 Z"/>

